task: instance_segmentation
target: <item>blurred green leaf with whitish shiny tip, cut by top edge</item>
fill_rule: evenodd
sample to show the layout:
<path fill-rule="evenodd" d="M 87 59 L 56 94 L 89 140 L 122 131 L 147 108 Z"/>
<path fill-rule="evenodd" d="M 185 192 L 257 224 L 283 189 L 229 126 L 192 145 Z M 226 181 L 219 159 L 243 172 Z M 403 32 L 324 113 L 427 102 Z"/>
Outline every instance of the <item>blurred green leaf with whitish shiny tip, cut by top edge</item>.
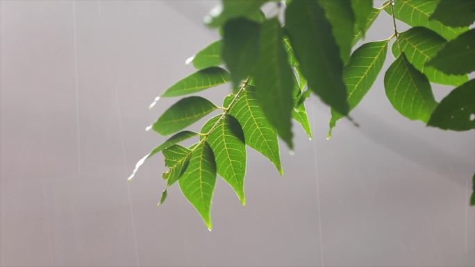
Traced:
<path fill-rule="evenodd" d="M 260 11 L 260 6 L 267 0 L 223 0 L 222 6 L 217 6 L 211 10 L 210 15 L 205 17 L 205 22 L 210 27 L 219 27 L 226 23 L 228 19 L 235 17 L 247 17 Z"/>

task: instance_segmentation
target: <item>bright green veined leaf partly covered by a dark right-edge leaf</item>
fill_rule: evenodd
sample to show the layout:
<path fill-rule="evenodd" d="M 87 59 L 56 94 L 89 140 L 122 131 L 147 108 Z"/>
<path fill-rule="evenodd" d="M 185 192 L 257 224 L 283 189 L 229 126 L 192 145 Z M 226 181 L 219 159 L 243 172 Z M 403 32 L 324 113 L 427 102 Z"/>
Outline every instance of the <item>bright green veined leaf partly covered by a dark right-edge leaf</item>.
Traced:
<path fill-rule="evenodd" d="M 449 75 L 444 74 L 442 71 L 438 71 L 434 67 L 426 66 L 426 62 L 433 58 L 437 51 L 444 47 L 447 41 L 424 27 L 410 28 L 409 31 L 400 33 L 398 36 L 399 46 L 401 50 L 406 54 L 410 64 L 426 74 L 428 80 L 433 83 L 441 83 L 442 85 L 461 85 L 468 80 L 467 75 Z M 397 42 L 392 44 L 392 53 L 395 57 L 400 54 Z"/>

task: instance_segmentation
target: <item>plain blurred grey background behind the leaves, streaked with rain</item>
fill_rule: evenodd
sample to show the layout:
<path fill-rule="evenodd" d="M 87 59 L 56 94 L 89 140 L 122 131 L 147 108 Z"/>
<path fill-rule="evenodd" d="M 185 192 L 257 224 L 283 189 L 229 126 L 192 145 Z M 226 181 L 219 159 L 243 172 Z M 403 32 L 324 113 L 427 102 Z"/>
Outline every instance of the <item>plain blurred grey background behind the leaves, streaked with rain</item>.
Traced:
<path fill-rule="evenodd" d="M 219 179 L 213 232 L 176 186 L 156 207 L 161 155 L 126 183 L 176 98 L 148 105 L 219 38 L 203 25 L 216 3 L 0 1 L 0 265 L 475 266 L 474 132 L 405 119 L 383 74 L 352 113 L 360 128 L 340 121 L 330 141 L 328 107 L 307 102 L 314 139 L 294 126 L 283 177 L 248 150 L 247 207 Z M 382 12 L 367 40 L 391 34 Z"/>

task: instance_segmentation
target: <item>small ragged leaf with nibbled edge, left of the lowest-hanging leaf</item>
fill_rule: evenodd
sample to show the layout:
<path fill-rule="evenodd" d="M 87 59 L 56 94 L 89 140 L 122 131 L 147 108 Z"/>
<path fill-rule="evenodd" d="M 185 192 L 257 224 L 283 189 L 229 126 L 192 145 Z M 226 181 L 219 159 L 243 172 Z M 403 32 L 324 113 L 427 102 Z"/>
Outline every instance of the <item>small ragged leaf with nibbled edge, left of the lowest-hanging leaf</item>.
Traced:
<path fill-rule="evenodd" d="M 167 180 L 167 187 L 171 187 L 185 173 L 191 154 L 190 149 L 180 145 L 173 145 L 163 150 L 165 166 L 169 168 L 162 173 L 162 178 Z"/>

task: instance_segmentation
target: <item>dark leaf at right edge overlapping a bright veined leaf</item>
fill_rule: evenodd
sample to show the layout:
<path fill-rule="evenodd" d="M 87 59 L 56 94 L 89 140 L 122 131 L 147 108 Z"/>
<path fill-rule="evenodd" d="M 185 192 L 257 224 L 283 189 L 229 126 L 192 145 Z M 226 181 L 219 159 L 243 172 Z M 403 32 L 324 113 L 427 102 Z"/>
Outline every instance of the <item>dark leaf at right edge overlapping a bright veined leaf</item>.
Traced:
<path fill-rule="evenodd" d="M 427 64 L 446 74 L 475 71 L 475 29 L 448 42 Z"/>

